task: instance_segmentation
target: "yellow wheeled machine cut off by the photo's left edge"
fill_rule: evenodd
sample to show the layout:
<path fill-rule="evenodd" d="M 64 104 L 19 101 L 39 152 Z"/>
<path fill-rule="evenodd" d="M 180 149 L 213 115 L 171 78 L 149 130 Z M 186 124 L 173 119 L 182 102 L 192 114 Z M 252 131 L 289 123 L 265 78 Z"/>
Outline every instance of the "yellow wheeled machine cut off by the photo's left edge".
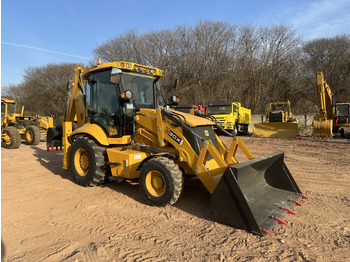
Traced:
<path fill-rule="evenodd" d="M 37 145 L 41 135 L 53 127 L 52 117 L 24 116 L 24 107 L 18 108 L 18 101 L 1 99 L 1 145 L 5 148 L 19 148 L 24 141 L 28 145 Z"/>

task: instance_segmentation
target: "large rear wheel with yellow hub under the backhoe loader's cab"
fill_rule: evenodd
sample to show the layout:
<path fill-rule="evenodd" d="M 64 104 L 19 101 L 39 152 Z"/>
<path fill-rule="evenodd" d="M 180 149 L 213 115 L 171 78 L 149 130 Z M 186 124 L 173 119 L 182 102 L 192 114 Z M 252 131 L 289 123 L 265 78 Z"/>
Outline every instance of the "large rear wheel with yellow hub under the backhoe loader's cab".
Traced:
<path fill-rule="evenodd" d="M 75 182 L 81 186 L 98 186 L 104 183 L 106 150 L 95 141 L 80 137 L 74 141 L 70 153 L 70 164 Z"/>

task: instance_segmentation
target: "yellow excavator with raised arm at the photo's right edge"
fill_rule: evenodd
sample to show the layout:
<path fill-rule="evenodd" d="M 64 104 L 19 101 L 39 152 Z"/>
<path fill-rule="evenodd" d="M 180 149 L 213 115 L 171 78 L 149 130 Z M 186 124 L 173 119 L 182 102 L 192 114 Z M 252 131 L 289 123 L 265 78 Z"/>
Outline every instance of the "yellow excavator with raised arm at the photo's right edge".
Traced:
<path fill-rule="evenodd" d="M 337 103 L 323 73 L 317 75 L 317 93 L 320 103 L 318 120 L 314 120 L 314 137 L 332 138 L 333 133 L 344 136 L 344 127 L 350 127 L 350 103 Z"/>

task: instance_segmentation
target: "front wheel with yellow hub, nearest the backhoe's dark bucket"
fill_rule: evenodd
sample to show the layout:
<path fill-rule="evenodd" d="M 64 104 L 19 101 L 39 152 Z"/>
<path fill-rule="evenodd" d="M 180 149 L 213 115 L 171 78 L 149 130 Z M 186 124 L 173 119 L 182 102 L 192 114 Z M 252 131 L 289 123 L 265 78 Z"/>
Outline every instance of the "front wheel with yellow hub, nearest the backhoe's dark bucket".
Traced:
<path fill-rule="evenodd" d="M 144 197 L 153 206 L 173 205 L 180 197 L 184 180 L 178 165 L 165 157 L 147 161 L 141 168 L 139 184 Z"/>

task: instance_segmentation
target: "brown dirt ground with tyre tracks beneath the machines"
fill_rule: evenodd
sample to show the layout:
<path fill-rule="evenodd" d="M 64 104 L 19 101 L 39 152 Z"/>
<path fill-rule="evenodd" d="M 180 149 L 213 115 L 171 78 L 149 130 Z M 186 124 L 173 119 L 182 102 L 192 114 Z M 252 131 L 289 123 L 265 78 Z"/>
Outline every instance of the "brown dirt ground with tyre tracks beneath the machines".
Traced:
<path fill-rule="evenodd" d="M 151 207 L 137 183 L 78 186 L 45 142 L 2 148 L 3 261 L 349 261 L 350 141 L 243 141 L 256 157 L 284 151 L 310 198 L 273 236 L 213 221 L 210 194 L 196 181 L 174 206 Z"/>

